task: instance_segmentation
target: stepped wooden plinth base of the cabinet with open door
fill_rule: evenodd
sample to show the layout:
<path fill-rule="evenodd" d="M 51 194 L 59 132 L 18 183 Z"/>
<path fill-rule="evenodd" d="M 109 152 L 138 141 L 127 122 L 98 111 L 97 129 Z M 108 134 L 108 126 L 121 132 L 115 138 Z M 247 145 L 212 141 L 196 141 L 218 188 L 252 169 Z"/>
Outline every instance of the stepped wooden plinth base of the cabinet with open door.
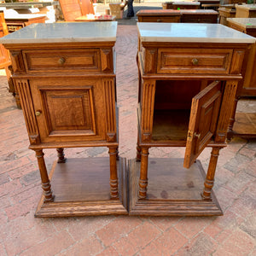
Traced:
<path fill-rule="evenodd" d="M 189 169 L 183 159 L 148 159 L 147 199 L 138 199 L 140 163 L 129 160 L 131 215 L 215 216 L 223 215 L 212 192 L 212 200 L 201 198 L 205 172 L 197 160 Z"/>

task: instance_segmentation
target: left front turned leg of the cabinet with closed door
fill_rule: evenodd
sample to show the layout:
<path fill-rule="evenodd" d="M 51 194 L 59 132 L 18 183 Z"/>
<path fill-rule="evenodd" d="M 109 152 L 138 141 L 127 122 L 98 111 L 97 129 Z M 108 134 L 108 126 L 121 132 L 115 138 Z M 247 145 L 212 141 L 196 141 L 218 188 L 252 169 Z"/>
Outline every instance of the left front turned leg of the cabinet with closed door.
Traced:
<path fill-rule="evenodd" d="M 36 157 L 38 158 L 38 166 L 42 181 L 42 189 L 44 191 L 44 202 L 54 201 L 54 195 L 52 195 L 49 183 L 49 177 L 44 162 L 44 152 L 42 149 L 36 150 Z"/>

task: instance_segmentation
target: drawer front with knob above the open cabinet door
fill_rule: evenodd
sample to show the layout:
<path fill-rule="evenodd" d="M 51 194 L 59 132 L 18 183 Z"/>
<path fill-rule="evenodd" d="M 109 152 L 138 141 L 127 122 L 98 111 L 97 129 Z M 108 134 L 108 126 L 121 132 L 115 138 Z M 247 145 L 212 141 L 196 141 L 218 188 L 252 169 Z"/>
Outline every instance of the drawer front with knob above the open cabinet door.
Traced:
<path fill-rule="evenodd" d="M 157 73 L 229 73 L 232 49 L 158 49 Z"/>

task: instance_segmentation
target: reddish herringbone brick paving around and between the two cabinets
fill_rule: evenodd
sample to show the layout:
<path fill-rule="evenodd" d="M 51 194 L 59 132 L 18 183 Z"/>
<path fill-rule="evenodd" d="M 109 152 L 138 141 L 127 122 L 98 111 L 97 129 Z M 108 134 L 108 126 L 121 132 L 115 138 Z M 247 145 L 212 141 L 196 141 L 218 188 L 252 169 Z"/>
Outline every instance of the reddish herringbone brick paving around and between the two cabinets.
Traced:
<path fill-rule="evenodd" d="M 119 26 L 119 154 L 137 143 L 137 28 Z M 215 192 L 222 217 L 34 218 L 41 196 L 26 126 L 0 73 L 0 255 L 256 255 L 256 141 L 235 138 L 220 152 Z M 255 105 L 253 105 L 255 108 Z M 50 168 L 55 150 L 45 150 Z M 67 148 L 67 157 L 108 155 L 106 148 Z M 183 148 L 154 148 L 154 157 L 183 157 Z M 200 156 L 207 166 L 210 149 Z"/>

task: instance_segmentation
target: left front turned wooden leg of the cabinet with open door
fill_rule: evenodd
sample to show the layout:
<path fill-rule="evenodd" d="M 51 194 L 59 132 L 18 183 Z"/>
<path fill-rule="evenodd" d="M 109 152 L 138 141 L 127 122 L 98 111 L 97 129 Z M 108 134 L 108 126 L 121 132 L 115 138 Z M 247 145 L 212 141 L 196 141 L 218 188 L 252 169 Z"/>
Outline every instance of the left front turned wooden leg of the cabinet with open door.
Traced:
<path fill-rule="evenodd" d="M 148 186 L 148 148 L 142 147 L 141 152 L 141 173 L 139 180 L 139 195 L 140 199 L 146 199 Z"/>

